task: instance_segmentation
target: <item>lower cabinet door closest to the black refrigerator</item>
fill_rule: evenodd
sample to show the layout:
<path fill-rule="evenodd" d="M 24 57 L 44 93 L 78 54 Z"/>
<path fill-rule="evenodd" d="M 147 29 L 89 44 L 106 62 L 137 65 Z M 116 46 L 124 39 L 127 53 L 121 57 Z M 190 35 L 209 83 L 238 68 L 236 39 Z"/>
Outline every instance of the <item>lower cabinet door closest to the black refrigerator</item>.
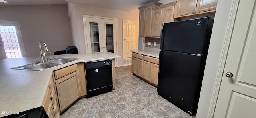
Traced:
<path fill-rule="evenodd" d="M 158 83 L 158 71 L 159 66 L 157 64 L 151 64 L 151 75 L 150 75 L 150 82 L 154 86 L 157 86 Z"/>

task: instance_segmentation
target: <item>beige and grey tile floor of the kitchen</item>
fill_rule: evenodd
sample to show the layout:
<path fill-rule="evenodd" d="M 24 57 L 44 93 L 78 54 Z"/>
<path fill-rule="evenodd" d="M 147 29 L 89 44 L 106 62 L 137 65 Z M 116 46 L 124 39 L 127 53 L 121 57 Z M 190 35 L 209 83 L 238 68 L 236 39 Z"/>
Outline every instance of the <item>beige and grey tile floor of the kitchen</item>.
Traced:
<path fill-rule="evenodd" d="M 195 118 L 158 95 L 157 88 L 117 67 L 112 92 L 78 100 L 60 118 Z"/>

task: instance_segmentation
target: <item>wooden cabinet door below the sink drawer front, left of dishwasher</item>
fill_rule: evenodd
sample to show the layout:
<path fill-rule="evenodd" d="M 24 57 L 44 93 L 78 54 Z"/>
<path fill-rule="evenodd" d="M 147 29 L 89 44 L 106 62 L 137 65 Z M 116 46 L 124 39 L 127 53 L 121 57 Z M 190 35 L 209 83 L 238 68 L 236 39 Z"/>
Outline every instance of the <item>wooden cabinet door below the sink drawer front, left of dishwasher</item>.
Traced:
<path fill-rule="evenodd" d="M 62 112 L 79 98 L 77 72 L 73 72 L 56 80 L 56 88 L 60 112 Z"/>

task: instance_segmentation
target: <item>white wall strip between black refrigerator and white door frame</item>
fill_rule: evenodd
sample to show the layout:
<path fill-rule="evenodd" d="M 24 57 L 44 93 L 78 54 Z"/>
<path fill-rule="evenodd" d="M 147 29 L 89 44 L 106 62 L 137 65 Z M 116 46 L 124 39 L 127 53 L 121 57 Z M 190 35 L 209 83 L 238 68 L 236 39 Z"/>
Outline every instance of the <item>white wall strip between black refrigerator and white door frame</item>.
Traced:
<path fill-rule="evenodd" d="M 208 118 L 232 0 L 218 0 L 196 118 Z"/>

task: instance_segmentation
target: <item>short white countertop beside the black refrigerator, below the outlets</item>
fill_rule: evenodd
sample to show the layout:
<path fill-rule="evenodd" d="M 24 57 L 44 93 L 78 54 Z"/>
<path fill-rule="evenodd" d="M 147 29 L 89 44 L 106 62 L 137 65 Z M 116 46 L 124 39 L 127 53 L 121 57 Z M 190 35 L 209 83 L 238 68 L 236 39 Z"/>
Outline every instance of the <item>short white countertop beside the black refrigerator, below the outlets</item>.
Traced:
<path fill-rule="evenodd" d="M 152 56 L 154 58 L 159 58 L 159 50 L 157 48 L 147 48 L 144 47 L 144 50 L 131 50 L 134 53 L 143 54 L 146 56 Z"/>

